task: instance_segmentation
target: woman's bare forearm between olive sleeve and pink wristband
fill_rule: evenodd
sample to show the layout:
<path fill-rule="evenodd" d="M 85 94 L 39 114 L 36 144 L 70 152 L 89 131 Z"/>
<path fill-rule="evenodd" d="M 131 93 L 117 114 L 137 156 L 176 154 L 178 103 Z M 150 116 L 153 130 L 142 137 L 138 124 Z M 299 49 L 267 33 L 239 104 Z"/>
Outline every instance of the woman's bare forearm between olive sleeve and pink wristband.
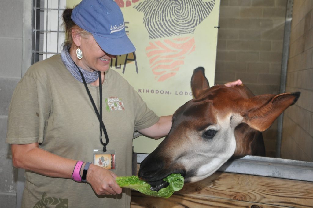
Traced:
<path fill-rule="evenodd" d="M 50 177 L 72 178 L 76 160 L 38 148 L 39 144 L 12 144 L 13 165 Z"/>

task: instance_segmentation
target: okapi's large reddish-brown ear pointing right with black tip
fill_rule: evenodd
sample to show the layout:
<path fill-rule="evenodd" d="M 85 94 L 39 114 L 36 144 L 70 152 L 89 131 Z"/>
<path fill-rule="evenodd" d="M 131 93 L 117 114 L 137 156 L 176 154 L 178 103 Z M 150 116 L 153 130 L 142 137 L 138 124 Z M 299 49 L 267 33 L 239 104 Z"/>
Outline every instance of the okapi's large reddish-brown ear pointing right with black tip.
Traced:
<path fill-rule="evenodd" d="M 275 119 L 289 106 L 295 104 L 300 92 L 283 93 L 279 95 L 254 96 L 239 101 L 245 123 L 263 132 L 268 129 Z"/>

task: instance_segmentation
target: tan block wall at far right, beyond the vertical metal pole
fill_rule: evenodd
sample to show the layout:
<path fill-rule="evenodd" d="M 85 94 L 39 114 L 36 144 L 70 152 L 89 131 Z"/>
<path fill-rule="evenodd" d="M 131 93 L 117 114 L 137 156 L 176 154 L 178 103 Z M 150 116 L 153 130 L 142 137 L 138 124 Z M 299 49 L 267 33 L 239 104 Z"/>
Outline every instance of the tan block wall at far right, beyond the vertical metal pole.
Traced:
<path fill-rule="evenodd" d="M 286 91 L 300 91 L 284 114 L 281 155 L 313 161 L 313 1 L 294 0 Z"/>

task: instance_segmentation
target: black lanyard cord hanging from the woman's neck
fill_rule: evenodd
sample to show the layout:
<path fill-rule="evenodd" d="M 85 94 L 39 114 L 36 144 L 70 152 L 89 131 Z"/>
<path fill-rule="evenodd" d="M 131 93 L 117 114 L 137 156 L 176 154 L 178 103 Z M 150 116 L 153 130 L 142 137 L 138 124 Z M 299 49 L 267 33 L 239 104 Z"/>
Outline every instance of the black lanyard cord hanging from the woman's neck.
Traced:
<path fill-rule="evenodd" d="M 74 64 L 76 65 L 76 63 L 74 62 Z M 102 79 L 101 79 L 101 72 L 99 71 L 98 74 L 99 74 L 99 96 L 100 96 L 100 113 L 98 112 L 98 109 L 95 105 L 95 102 L 94 100 L 92 99 L 92 96 L 90 94 L 90 91 L 87 87 L 87 83 L 85 81 L 85 77 L 83 75 L 83 73 L 81 73 L 80 69 L 78 68 L 78 66 L 76 65 L 77 69 L 79 70 L 80 72 L 80 75 L 81 75 L 81 78 L 83 79 L 83 82 L 84 82 L 84 85 L 85 85 L 85 88 L 86 88 L 86 91 L 88 93 L 88 96 L 89 96 L 89 99 L 91 101 L 91 104 L 92 106 L 94 107 L 95 109 L 95 113 L 98 117 L 98 120 L 100 122 L 100 142 L 101 144 L 103 145 L 103 152 L 106 152 L 106 145 L 109 143 L 109 137 L 108 137 L 108 134 L 106 133 L 106 129 L 105 129 L 105 126 L 104 126 L 104 123 L 102 121 Z M 104 135 L 105 135 L 105 143 L 103 143 L 102 141 L 102 130 L 101 128 L 103 129 L 103 132 L 104 132 Z"/>

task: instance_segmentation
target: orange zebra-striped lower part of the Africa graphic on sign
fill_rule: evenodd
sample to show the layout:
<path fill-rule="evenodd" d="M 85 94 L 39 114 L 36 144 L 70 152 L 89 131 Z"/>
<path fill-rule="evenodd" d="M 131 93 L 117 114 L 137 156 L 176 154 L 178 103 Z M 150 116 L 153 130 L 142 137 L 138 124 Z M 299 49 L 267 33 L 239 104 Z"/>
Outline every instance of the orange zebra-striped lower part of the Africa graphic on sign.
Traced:
<path fill-rule="evenodd" d="M 164 81 L 177 74 L 185 56 L 195 50 L 193 37 L 161 39 L 146 47 L 152 73 L 156 81 Z"/>

